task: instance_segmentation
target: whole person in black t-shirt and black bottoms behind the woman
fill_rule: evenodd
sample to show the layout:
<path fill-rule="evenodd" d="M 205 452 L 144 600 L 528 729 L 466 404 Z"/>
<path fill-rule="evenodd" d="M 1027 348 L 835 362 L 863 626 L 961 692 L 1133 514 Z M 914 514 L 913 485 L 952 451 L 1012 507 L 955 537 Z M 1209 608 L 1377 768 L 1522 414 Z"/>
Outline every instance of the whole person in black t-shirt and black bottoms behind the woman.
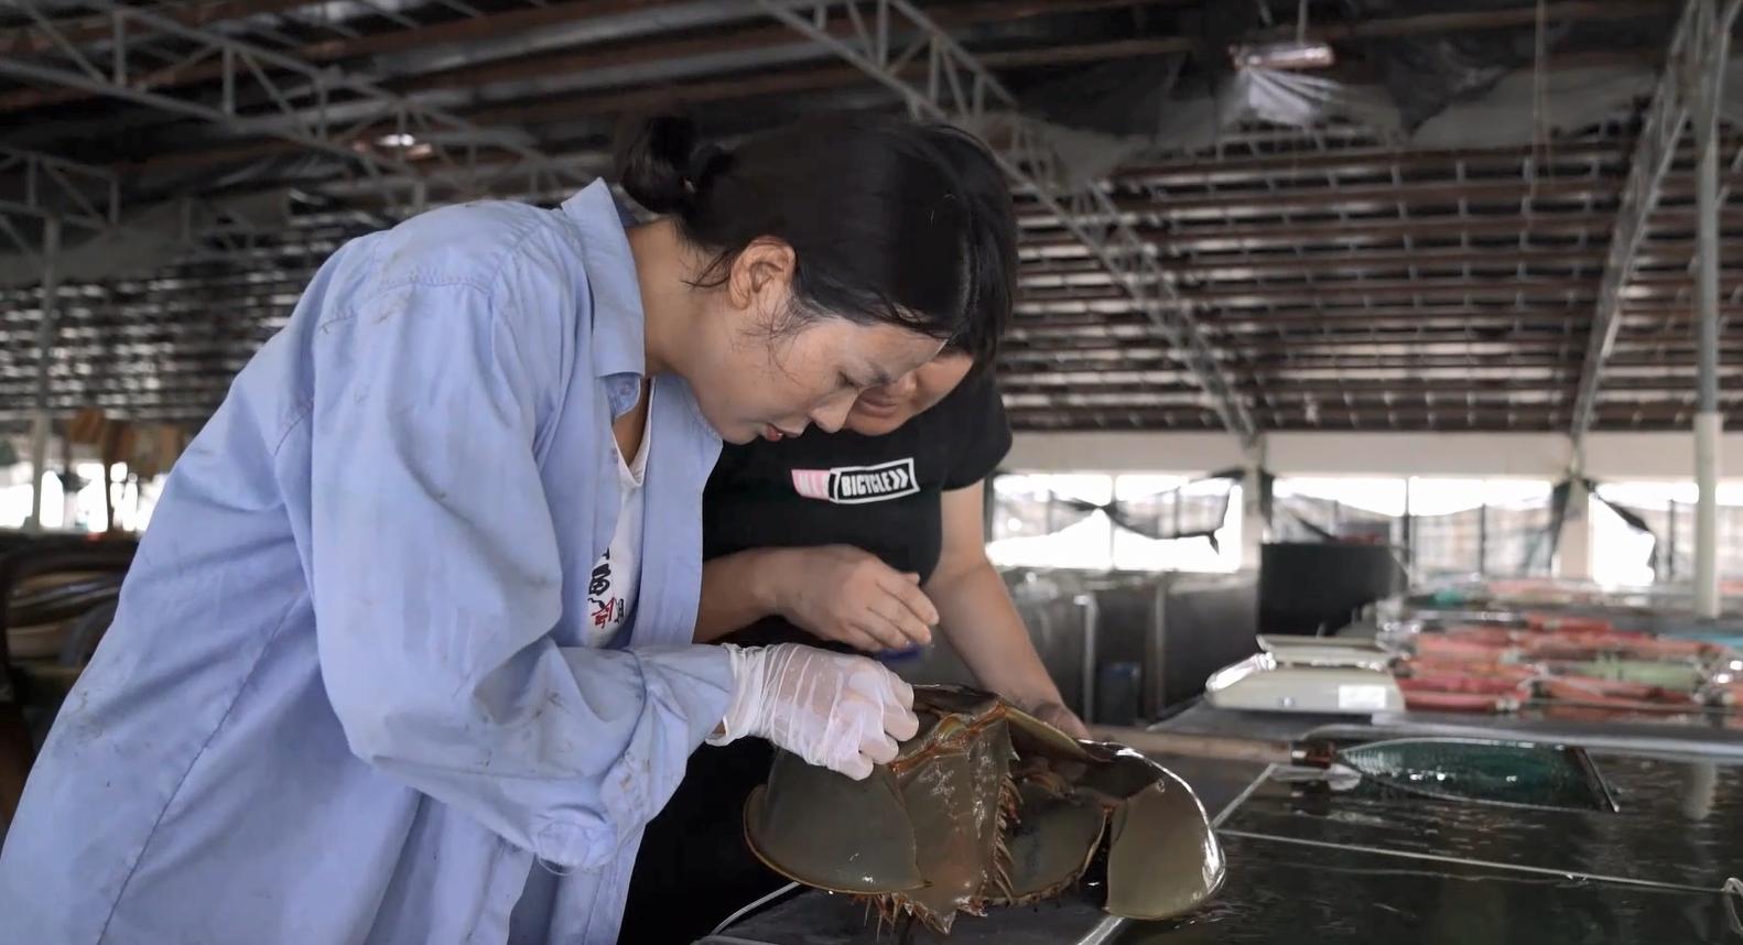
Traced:
<path fill-rule="evenodd" d="M 976 361 L 990 357 L 945 349 L 861 394 L 840 432 L 727 446 L 702 500 L 695 640 L 880 652 L 939 626 L 983 687 L 1088 734 L 987 560 L 983 483 L 1011 429 Z M 772 755 L 744 739 L 690 757 L 641 840 L 619 942 L 694 942 L 786 882 L 744 847 L 744 799 Z"/>

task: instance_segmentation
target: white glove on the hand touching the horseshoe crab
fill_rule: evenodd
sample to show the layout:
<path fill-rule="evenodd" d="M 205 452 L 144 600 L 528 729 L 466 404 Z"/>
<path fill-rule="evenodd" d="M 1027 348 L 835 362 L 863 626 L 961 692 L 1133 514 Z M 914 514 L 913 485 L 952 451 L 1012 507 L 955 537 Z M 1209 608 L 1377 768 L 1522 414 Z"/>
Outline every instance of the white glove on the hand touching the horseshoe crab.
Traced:
<path fill-rule="evenodd" d="M 800 643 L 722 647 L 732 657 L 732 704 L 709 744 L 758 736 L 859 781 L 920 731 L 913 687 L 872 659 Z"/>

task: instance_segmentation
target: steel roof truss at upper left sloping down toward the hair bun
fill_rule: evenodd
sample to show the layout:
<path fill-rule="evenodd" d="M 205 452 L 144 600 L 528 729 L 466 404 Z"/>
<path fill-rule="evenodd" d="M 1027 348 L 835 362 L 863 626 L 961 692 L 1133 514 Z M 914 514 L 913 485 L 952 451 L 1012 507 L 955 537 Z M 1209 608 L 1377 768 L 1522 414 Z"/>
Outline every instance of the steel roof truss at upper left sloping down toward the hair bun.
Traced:
<path fill-rule="evenodd" d="M 30 61 L 0 56 L 0 75 L 84 89 L 209 120 L 244 134 L 267 134 L 356 162 L 370 176 L 411 174 L 462 197 L 500 192 L 505 181 L 521 180 L 526 181 L 528 192 L 539 194 L 553 190 L 554 180 L 566 178 L 565 167 L 553 164 L 535 148 L 507 141 L 465 119 L 418 105 L 336 68 L 314 66 L 113 0 L 87 0 L 87 5 L 96 7 L 110 26 L 106 54 L 92 56 L 78 49 L 75 37 L 64 35 L 63 26 L 47 17 L 51 10 L 44 0 L 7 0 L 7 3 L 30 16 L 31 26 L 19 30 L 40 33 L 52 45 L 54 56 Z M 173 94 L 141 87 L 141 70 L 150 68 L 152 56 L 160 56 L 148 45 L 159 37 L 181 40 L 178 54 L 183 61 L 218 63 L 221 84 L 218 101 L 192 92 Z M 361 110 L 363 119 L 333 120 L 329 112 L 340 105 Z M 382 129 L 410 138 L 383 143 L 376 139 Z M 497 162 L 481 166 L 479 155 L 492 152 L 505 152 L 512 160 L 505 166 Z M 584 181 L 573 180 L 573 183 Z"/>

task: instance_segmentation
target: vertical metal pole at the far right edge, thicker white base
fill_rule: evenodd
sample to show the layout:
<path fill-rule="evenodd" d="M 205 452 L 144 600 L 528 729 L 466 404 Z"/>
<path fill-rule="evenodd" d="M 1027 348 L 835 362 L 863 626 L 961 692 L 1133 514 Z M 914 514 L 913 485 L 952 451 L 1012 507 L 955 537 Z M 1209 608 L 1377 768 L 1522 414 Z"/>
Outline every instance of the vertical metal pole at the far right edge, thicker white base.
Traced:
<path fill-rule="evenodd" d="M 1706 56 L 1696 75 L 1696 411 L 1694 411 L 1694 481 L 1699 504 L 1694 516 L 1694 615 L 1719 615 L 1719 94 L 1724 80 L 1727 35 L 1713 17 L 1713 2 L 1703 3 L 1706 17 Z M 1726 21 L 1729 24 L 1729 19 Z"/>

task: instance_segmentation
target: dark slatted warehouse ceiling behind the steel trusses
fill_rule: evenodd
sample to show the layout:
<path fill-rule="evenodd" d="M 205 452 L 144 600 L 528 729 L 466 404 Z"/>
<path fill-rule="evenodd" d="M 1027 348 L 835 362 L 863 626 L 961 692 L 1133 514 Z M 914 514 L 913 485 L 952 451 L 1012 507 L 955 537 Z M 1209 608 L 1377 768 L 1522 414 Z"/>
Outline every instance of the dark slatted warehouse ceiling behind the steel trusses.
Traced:
<path fill-rule="evenodd" d="M 1680 3 L 917 7 L 1042 122 L 1067 178 L 1112 201 L 1258 431 L 1574 424 Z M 1231 56 L 1290 44 L 1333 61 Z M 1727 85 L 1743 115 L 1743 73 Z M 340 242 L 417 206 L 554 202 L 605 171 L 624 115 L 666 106 L 730 139 L 901 101 L 755 0 L 0 0 L 0 422 L 37 391 L 51 214 L 51 410 L 199 420 Z M 1729 127 L 1724 185 L 1743 180 Z M 1621 289 L 1597 429 L 1692 418 L 1691 155 Z M 1016 194 L 1014 425 L 1220 429 L 1203 371 Z M 1743 235 L 1743 207 L 1720 228 Z M 1724 263 L 1736 424 L 1743 258 Z"/>

